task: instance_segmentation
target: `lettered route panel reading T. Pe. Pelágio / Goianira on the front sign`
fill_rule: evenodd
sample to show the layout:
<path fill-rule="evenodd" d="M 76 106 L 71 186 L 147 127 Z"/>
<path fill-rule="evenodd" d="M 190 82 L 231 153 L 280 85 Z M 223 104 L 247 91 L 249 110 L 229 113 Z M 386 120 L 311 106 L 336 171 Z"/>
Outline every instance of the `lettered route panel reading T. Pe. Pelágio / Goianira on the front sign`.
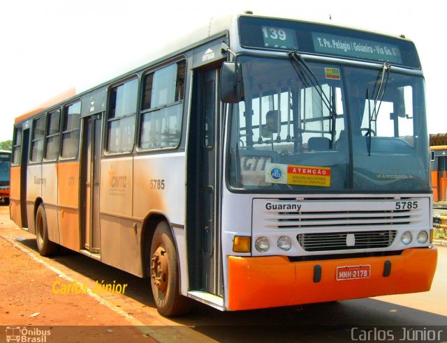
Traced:
<path fill-rule="evenodd" d="M 316 32 L 312 32 L 312 39 L 315 52 L 322 54 L 402 64 L 400 49 L 397 45 Z"/>

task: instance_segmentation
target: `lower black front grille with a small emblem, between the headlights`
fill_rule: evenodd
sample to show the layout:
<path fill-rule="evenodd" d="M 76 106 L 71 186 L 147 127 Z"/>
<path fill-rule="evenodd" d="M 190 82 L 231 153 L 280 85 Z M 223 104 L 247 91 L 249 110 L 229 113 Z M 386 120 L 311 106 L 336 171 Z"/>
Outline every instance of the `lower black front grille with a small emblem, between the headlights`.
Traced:
<path fill-rule="evenodd" d="M 330 232 L 298 234 L 301 247 L 308 252 L 372 249 L 389 247 L 397 231 Z"/>

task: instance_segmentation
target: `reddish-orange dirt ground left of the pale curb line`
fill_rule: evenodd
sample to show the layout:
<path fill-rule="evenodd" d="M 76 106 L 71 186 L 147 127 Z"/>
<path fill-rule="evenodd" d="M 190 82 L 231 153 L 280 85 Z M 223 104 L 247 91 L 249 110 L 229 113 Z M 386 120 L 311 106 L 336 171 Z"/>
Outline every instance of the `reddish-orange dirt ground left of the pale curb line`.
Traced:
<path fill-rule="evenodd" d="M 47 342 L 156 342 L 86 294 L 55 294 L 58 275 L 1 238 L 0 252 L 1 326 L 45 326 Z"/>

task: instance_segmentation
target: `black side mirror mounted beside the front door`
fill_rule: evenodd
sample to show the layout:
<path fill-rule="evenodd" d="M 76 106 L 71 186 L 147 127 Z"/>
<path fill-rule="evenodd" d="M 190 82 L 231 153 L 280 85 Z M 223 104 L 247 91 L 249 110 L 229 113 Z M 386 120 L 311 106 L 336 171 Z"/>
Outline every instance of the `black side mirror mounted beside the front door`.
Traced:
<path fill-rule="evenodd" d="M 242 65 L 223 62 L 221 67 L 221 101 L 235 104 L 242 100 Z"/>

